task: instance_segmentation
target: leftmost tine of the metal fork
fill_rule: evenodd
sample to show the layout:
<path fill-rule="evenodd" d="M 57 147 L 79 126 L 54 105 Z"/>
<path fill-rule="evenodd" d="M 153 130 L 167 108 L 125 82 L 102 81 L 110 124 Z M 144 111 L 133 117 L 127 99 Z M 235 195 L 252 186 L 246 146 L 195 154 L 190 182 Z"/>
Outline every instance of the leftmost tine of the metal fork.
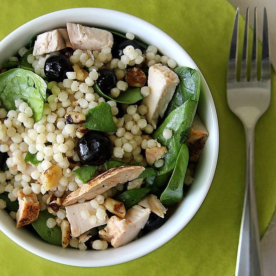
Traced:
<path fill-rule="evenodd" d="M 237 8 L 235 22 L 233 27 L 229 63 L 227 70 L 228 80 L 236 80 L 236 68 L 237 68 L 237 43 L 238 43 L 238 18 L 239 18 L 239 8 Z"/>

